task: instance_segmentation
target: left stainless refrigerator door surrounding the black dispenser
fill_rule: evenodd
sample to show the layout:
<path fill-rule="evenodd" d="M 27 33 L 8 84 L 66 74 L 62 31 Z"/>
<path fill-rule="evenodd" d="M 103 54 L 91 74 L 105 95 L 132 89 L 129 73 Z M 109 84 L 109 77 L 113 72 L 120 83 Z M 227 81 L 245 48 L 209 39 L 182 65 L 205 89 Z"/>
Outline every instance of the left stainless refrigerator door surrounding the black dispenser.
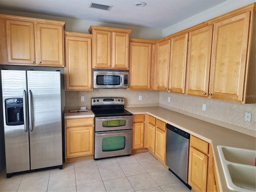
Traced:
<path fill-rule="evenodd" d="M 1 70 L 6 173 L 30 170 L 29 132 L 26 125 L 6 125 L 5 100 L 23 98 L 26 104 L 26 71 Z M 26 107 L 26 105 L 25 105 Z M 25 110 L 25 109 L 23 109 Z M 25 113 L 24 113 L 25 114 Z M 21 117 L 19 117 L 21 118 Z M 26 117 L 24 117 L 26 120 Z M 26 124 L 26 122 L 24 122 Z"/>

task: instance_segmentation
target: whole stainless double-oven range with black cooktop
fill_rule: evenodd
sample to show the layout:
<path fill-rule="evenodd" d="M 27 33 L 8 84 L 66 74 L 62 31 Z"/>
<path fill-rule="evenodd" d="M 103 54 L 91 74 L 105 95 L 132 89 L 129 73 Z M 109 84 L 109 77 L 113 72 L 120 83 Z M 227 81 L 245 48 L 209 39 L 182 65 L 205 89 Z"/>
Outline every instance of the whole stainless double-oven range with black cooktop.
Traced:
<path fill-rule="evenodd" d="M 132 153 L 132 114 L 124 98 L 92 98 L 95 114 L 94 159 Z"/>

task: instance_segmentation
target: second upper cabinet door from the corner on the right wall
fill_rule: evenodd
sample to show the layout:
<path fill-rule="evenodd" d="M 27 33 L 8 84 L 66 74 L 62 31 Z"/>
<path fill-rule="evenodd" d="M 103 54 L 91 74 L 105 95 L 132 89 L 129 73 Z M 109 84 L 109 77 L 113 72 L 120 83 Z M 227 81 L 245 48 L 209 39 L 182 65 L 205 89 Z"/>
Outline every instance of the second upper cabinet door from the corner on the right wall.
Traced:
<path fill-rule="evenodd" d="M 185 93 L 188 34 L 172 38 L 170 55 L 170 92 Z"/>

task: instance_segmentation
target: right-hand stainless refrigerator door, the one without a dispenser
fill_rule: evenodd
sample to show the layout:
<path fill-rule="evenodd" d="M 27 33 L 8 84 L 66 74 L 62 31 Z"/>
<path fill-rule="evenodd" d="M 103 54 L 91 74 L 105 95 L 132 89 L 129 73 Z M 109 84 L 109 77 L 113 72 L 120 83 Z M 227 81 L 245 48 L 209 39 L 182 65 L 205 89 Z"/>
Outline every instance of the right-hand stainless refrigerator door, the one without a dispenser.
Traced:
<path fill-rule="evenodd" d="M 27 71 L 30 168 L 62 165 L 60 72 Z"/>

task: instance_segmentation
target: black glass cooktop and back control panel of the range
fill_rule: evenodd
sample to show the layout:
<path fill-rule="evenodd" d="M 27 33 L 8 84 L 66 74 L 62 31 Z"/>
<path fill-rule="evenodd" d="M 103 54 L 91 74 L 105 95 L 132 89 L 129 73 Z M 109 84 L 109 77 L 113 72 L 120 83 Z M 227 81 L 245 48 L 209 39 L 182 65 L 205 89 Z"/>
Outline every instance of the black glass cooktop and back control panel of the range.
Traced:
<path fill-rule="evenodd" d="M 92 98 L 91 110 L 95 117 L 132 116 L 124 109 L 124 98 Z"/>

